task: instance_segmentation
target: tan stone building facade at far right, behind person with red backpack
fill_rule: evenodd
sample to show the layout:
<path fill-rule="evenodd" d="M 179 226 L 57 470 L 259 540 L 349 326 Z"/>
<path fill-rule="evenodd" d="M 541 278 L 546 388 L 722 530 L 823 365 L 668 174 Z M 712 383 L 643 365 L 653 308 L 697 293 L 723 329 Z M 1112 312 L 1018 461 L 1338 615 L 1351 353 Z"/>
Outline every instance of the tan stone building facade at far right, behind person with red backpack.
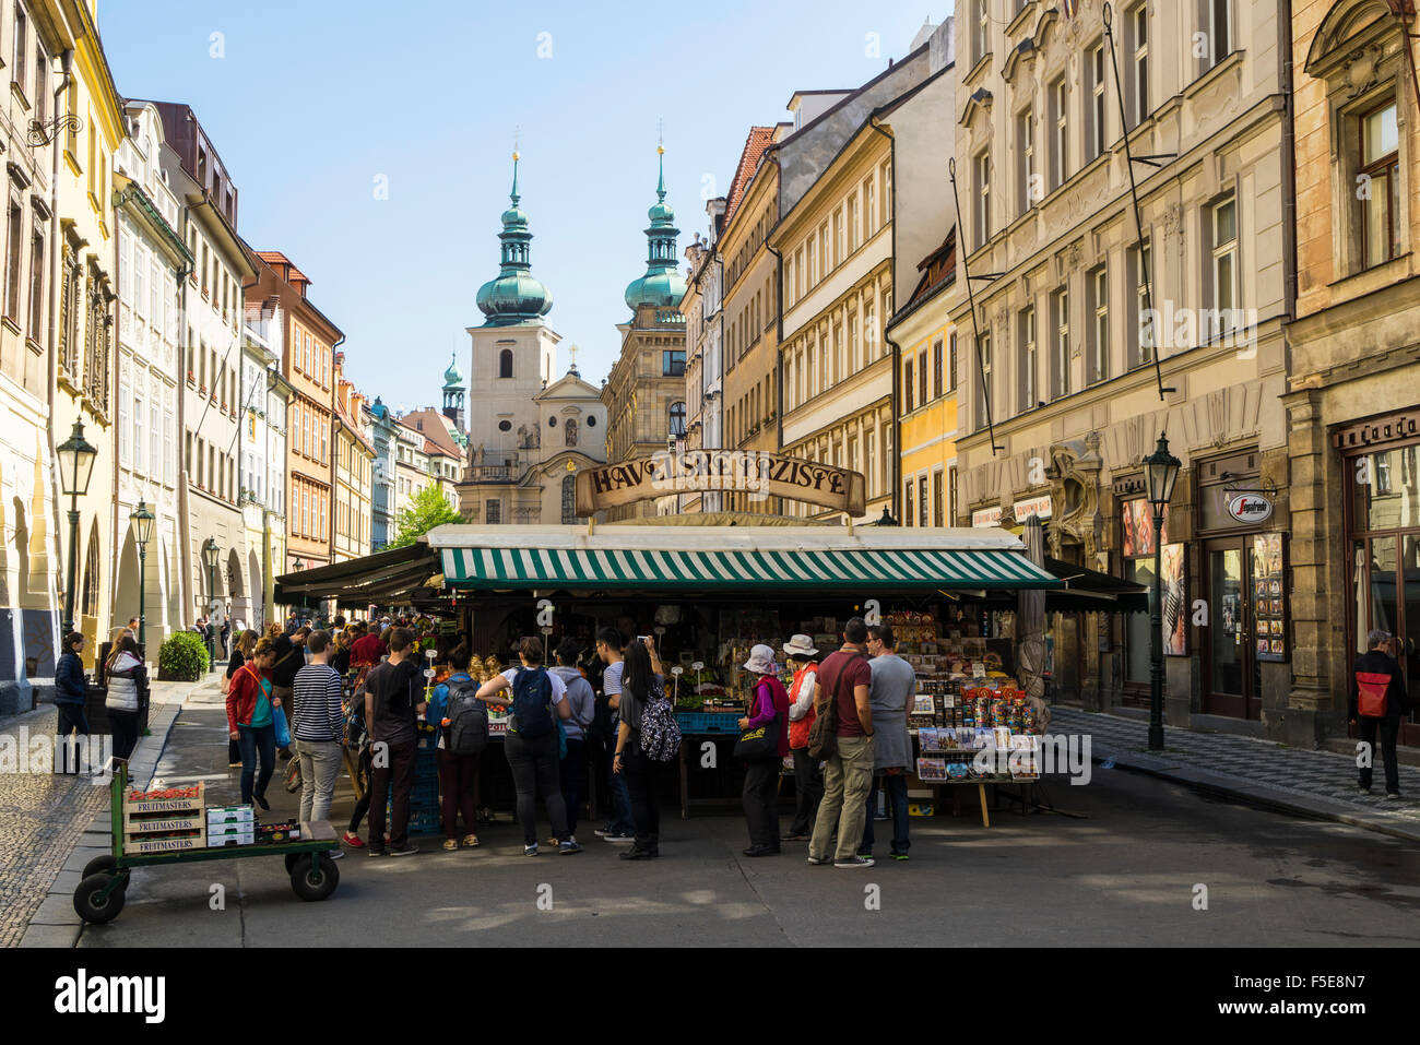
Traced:
<path fill-rule="evenodd" d="M 1350 662 L 1375 628 L 1420 710 L 1420 48 L 1380 0 L 1296 3 L 1291 31 L 1288 740 L 1309 744 L 1346 735 Z"/>

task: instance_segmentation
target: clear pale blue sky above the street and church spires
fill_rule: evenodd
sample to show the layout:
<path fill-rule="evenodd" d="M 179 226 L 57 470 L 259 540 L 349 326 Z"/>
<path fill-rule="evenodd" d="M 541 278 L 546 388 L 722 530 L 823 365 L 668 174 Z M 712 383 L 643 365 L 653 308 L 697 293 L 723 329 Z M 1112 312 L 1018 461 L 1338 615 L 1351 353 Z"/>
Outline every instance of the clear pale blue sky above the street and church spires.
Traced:
<path fill-rule="evenodd" d="M 196 111 L 240 192 L 239 231 L 311 278 L 345 331 L 346 373 L 413 409 L 437 402 L 452 351 L 467 373 L 515 129 L 547 319 L 595 385 L 645 271 L 657 119 L 683 251 L 751 124 L 788 119 L 795 89 L 875 77 L 950 13 L 951 0 L 99 0 L 99 31 L 121 95 Z"/>

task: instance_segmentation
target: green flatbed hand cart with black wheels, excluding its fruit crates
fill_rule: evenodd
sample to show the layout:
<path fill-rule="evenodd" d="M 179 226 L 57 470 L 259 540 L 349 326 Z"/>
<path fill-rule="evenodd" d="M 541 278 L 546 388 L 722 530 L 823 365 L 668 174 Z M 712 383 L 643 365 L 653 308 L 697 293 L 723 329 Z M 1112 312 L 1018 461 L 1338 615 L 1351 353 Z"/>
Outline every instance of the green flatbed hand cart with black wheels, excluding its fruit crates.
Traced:
<path fill-rule="evenodd" d="M 179 852 L 124 852 L 124 795 L 128 789 L 128 762 L 115 760 L 109 785 L 114 852 L 95 856 L 84 865 L 82 880 L 74 890 L 74 910 L 89 924 L 101 926 L 124 910 L 128 879 L 133 868 L 196 860 L 231 860 L 243 856 L 284 856 L 291 889 L 302 900 L 324 900 L 335 892 L 341 873 L 327 853 L 339 845 L 329 821 L 301 824 L 301 838 L 294 842 L 229 845 Z"/>

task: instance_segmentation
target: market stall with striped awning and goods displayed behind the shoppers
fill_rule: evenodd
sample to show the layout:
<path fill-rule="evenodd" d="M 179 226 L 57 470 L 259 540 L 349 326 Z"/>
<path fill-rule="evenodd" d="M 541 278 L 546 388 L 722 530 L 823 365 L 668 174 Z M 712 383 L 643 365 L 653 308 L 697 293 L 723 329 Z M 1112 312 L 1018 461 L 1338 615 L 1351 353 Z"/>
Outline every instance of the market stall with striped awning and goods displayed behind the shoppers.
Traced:
<path fill-rule="evenodd" d="M 914 733 L 973 730 L 953 733 L 947 748 L 929 733 L 910 781 L 922 811 L 953 781 L 1011 781 L 953 774 L 971 772 L 976 730 L 1001 730 L 991 737 L 1007 747 L 1037 728 L 1021 710 L 1012 638 L 998 632 L 1008 630 L 1003 616 L 1017 592 L 1065 589 L 1000 530 L 456 524 L 426 540 L 446 589 L 471 596 L 460 598 L 460 629 L 479 656 L 507 662 L 523 635 L 538 632 L 554 645 L 571 635 L 588 652 L 604 626 L 657 636 L 687 738 L 677 767 L 683 815 L 738 794 L 730 748 L 750 647 L 781 649 L 807 633 L 826 655 L 855 615 L 902 623 L 899 652 L 916 660 L 920 680 Z"/>

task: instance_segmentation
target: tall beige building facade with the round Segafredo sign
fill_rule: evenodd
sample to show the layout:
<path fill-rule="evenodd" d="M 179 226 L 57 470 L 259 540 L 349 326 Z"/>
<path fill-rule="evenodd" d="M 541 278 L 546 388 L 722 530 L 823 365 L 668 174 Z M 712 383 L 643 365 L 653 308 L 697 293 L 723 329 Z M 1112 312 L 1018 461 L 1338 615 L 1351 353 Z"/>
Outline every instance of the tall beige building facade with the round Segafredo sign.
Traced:
<path fill-rule="evenodd" d="M 1038 514 L 1055 558 L 1152 586 L 1142 459 L 1167 433 L 1166 720 L 1281 738 L 1287 21 L 1261 1 L 1116 6 L 1116 91 L 1099 0 L 1004 7 L 957 11 L 957 278 L 976 291 L 950 317 L 970 345 L 958 521 Z M 1126 146 L 1156 166 L 1130 172 Z M 1231 515 L 1240 491 L 1271 514 Z M 1061 699 L 1147 703 L 1146 615 L 1047 628 Z"/>

